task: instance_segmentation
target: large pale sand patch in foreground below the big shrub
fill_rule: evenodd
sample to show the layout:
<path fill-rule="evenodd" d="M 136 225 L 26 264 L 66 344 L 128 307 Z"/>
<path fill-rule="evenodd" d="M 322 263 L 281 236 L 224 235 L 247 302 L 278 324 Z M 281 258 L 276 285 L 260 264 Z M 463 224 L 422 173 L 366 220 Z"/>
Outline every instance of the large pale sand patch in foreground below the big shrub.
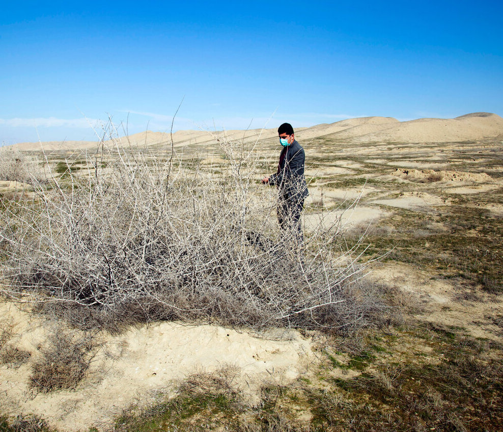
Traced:
<path fill-rule="evenodd" d="M 38 414 L 62 431 L 108 423 L 131 403 L 149 403 L 156 390 L 169 391 L 173 380 L 194 372 L 235 365 L 241 371 L 240 386 L 257 397 L 264 382 L 294 380 L 315 361 L 310 340 L 296 331 L 284 330 L 289 340 L 278 341 L 217 326 L 162 322 L 121 336 L 102 335 L 104 349 L 75 391 L 37 394 L 28 387 L 30 368 L 47 331 L 41 321 L 10 303 L 0 305 L 0 316 L 2 322 L 13 322 L 16 346 L 32 353 L 30 362 L 17 370 L 0 366 L 4 405 L 10 414 Z"/>

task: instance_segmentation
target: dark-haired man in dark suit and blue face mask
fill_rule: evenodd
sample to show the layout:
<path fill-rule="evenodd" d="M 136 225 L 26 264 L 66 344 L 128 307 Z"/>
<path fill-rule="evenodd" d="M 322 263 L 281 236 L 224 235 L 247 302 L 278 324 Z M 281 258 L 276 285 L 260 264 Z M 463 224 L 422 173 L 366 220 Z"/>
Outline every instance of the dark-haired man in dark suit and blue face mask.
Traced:
<path fill-rule="evenodd" d="M 284 231 L 290 231 L 297 246 L 303 242 L 300 213 L 304 199 L 309 195 L 304 178 L 304 149 L 295 140 L 293 127 L 283 123 L 277 129 L 280 144 L 280 163 L 277 172 L 264 177 L 262 183 L 273 184 L 278 189 L 277 220 Z"/>

